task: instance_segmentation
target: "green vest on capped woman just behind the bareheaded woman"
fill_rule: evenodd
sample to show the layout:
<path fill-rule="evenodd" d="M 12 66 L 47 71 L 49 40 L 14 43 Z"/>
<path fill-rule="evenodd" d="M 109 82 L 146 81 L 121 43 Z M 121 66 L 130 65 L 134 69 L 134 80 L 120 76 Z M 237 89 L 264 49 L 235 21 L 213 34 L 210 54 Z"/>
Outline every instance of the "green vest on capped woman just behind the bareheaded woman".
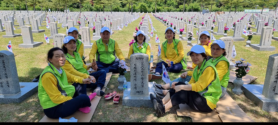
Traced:
<path fill-rule="evenodd" d="M 72 57 L 69 53 L 66 54 L 66 60 L 68 60 L 70 62 L 70 64 L 72 65 L 72 67 L 74 67 L 74 69 L 76 69 L 78 72 L 80 73 L 86 73 L 89 75 L 89 73 L 87 72 L 87 70 L 83 67 L 83 60 L 80 57 L 80 54 L 78 52 L 73 52 L 74 57 Z"/>

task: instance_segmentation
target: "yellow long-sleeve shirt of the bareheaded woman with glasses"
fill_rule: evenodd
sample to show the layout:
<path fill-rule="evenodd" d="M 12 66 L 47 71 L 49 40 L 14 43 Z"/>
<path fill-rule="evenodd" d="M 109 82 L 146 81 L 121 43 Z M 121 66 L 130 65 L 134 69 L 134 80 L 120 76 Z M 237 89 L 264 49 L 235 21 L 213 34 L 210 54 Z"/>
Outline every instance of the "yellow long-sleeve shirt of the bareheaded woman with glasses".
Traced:
<path fill-rule="evenodd" d="M 66 70 L 65 70 L 65 73 L 67 76 L 68 83 L 70 85 L 73 82 L 83 83 L 82 80 L 84 78 L 74 76 L 74 75 L 68 73 Z M 45 73 L 41 77 L 41 83 L 42 83 L 42 86 L 44 87 L 45 92 L 48 94 L 49 98 L 51 99 L 51 101 L 53 103 L 61 104 L 63 102 L 66 102 L 66 101 L 72 99 L 72 97 L 70 97 L 70 96 L 64 96 L 61 94 L 61 92 L 58 90 L 58 87 L 57 87 L 57 79 L 52 73 Z"/>

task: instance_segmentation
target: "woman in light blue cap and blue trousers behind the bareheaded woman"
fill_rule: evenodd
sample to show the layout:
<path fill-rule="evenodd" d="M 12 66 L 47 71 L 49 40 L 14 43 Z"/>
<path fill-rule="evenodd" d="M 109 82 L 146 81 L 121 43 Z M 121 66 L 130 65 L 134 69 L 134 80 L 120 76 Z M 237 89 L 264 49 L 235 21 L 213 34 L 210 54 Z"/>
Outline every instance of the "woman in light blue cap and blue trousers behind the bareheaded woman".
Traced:
<path fill-rule="evenodd" d="M 62 49 L 65 52 L 66 61 L 63 69 L 75 76 L 92 79 L 93 83 L 87 84 L 85 87 L 82 87 L 82 89 L 79 89 L 79 91 L 84 91 L 86 94 L 86 88 L 92 88 L 94 89 L 93 93 L 97 93 L 98 96 L 103 96 L 104 92 L 101 89 L 105 84 L 106 72 L 104 70 L 99 70 L 89 74 L 87 70 L 95 66 L 96 62 L 94 61 L 89 65 L 85 65 L 80 54 L 76 52 L 76 43 L 77 41 L 72 36 L 64 38 Z"/>

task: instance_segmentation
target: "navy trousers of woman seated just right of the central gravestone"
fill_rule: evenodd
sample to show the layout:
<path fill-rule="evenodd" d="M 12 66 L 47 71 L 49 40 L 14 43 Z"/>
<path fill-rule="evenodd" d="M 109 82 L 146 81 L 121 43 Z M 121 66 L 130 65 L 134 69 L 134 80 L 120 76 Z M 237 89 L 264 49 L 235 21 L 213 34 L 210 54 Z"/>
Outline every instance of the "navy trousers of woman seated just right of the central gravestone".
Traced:
<path fill-rule="evenodd" d="M 168 67 L 168 64 L 166 62 L 162 61 L 162 62 L 159 62 L 156 64 L 156 69 L 155 69 L 156 73 L 160 73 L 160 74 L 162 73 L 162 71 L 163 71 L 162 64 L 165 66 L 167 72 L 179 73 L 183 69 L 183 65 L 180 62 L 174 64 L 171 67 Z"/>

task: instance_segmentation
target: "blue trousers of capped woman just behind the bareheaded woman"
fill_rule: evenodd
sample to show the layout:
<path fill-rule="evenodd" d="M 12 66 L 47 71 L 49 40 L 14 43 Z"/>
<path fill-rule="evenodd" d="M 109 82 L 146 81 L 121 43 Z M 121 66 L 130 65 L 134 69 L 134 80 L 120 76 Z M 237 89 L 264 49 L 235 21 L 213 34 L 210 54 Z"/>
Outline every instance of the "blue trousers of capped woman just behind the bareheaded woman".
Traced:
<path fill-rule="evenodd" d="M 95 77 L 96 82 L 91 83 L 91 84 L 86 84 L 87 88 L 95 89 L 96 87 L 100 87 L 100 89 L 102 89 L 102 87 L 104 86 L 105 81 L 106 81 L 106 72 L 105 72 L 105 70 L 99 70 L 97 72 L 91 73 L 90 76 Z"/>

